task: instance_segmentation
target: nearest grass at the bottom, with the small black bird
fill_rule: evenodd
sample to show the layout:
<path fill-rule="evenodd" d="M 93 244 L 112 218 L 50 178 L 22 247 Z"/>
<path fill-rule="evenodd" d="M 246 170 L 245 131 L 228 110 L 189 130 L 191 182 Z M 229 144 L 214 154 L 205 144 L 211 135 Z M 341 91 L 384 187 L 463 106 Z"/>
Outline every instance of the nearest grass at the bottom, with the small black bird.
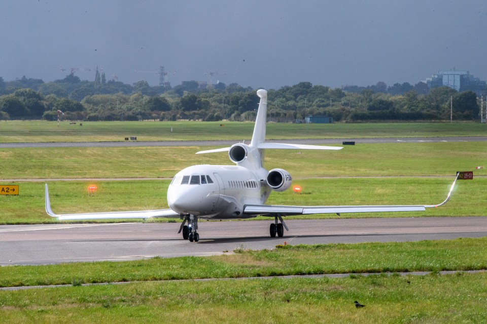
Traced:
<path fill-rule="evenodd" d="M 483 323 L 487 274 L 148 282 L 0 292 L 6 323 Z M 365 308 L 356 309 L 359 300 Z"/>

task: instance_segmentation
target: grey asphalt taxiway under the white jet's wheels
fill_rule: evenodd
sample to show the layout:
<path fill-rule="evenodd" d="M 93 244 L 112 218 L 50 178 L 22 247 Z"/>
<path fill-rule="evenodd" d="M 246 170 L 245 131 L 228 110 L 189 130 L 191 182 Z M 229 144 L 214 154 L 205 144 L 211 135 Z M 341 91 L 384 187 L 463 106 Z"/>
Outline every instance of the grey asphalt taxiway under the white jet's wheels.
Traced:
<path fill-rule="evenodd" d="M 183 240 L 179 223 L 0 226 L 0 265 L 122 261 L 155 256 L 208 256 L 276 245 L 417 241 L 487 236 L 487 217 L 288 220 L 282 238 L 269 237 L 269 221 L 199 224 L 199 242 Z"/>

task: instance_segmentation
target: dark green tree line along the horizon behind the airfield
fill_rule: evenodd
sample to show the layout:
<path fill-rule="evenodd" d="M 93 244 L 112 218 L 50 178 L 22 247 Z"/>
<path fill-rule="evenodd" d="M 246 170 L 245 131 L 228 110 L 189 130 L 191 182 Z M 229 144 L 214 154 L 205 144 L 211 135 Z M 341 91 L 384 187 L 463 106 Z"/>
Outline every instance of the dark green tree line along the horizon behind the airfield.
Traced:
<path fill-rule="evenodd" d="M 429 89 L 407 83 L 329 88 L 301 82 L 268 90 L 269 117 L 299 122 L 308 115 L 327 115 L 335 121 L 444 120 L 450 117 L 453 98 L 455 120 L 477 120 L 479 102 L 472 91 L 448 87 Z M 0 77 L 0 119 L 57 118 L 57 110 L 70 120 L 253 120 L 259 98 L 256 89 L 237 84 L 200 88 L 195 81 L 173 88 L 150 87 L 146 81 L 127 85 L 106 80 L 81 80 L 73 73 L 54 82 L 23 76 L 5 82 Z"/>

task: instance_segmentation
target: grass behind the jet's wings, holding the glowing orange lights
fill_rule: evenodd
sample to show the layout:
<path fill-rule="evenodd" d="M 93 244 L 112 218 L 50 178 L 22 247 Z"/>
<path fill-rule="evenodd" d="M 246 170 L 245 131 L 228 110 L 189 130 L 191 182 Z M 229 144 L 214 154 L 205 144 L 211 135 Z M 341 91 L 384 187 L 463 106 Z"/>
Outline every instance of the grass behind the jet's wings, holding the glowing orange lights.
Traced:
<path fill-rule="evenodd" d="M 454 178 L 330 178 L 294 181 L 301 194 L 292 190 L 273 192 L 268 204 L 297 206 L 422 205 L 439 204 L 446 198 Z M 51 206 L 57 214 L 153 210 L 168 208 L 166 191 L 170 180 L 96 181 L 95 196 L 88 196 L 88 181 L 49 181 Z M 487 178 L 459 181 L 449 203 L 407 217 L 487 216 L 483 194 Z M 19 183 L 20 195 L 0 196 L 0 224 L 58 223 L 44 211 L 44 183 Z M 404 213 L 343 214 L 345 217 L 404 217 Z M 336 215 L 293 216 L 287 219 L 336 218 Z M 259 219 L 259 218 L 258 218 Z M 268 218 L 267 218 L 268 219 Z"/>

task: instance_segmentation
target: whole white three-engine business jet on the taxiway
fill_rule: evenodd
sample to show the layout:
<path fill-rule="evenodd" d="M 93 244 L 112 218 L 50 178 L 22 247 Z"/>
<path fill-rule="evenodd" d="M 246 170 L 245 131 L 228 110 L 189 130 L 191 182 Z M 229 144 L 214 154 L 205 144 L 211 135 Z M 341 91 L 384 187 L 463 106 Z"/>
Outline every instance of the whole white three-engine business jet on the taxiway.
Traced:
<path fill-rule="evenodd" d="M 406 206 L 272 206 L 265 205 L 270 193 L 284 191 L 291 186 L 292 177 L 283 169 L 267 171 L 262 166 L 263 149 L 313 149 L 339 150 L 342 147 L 282 144 L 265 142 L 267 115 L 267 91 L 258 90 L 260 97 L 254 134 L 250 144 L 237 143 L 231 147 L 200 151 L 196 154 L 228 152 L 235 166 L 197 165 L 180 171 L 167 189 L 167 204 L 170 209 L 112 213 L 87 213 L 56 215 L 52 212 L 46 184 L 46 212 L 59 220 L 86 219 L 133 219 L 133 218 L 180 218 L 183 220 L 179 233 L 190 241 L 198 241 L 199 219 L 242 219 L 258 215 L 274 218 L 270 224 L 270 236 L 284 235 L 289 230 L 283 216 L 305 214 L 341 214 L 368 212 L 425 211 L 445 204 L 454 188 L 439 205 Z M 458 177 L 458 176 L 457 176 Z M 457 181 L 457 179 L 455 179 Z M 188 223 L 188 225 L 186 225 Z"/>

